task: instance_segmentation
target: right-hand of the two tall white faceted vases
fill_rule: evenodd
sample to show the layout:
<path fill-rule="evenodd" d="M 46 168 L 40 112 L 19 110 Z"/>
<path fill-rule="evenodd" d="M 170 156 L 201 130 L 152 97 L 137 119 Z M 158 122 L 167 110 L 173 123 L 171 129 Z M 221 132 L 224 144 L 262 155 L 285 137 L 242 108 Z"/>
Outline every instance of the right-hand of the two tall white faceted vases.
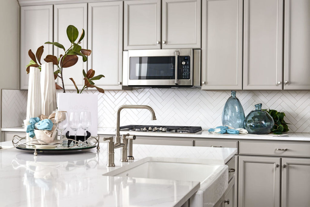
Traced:
<path fill-rule="evenodd" d="M 57 108 L 54 68 L 52 62 L 42 64 L 41 99 L 42 114 L 48 117 Z"/>

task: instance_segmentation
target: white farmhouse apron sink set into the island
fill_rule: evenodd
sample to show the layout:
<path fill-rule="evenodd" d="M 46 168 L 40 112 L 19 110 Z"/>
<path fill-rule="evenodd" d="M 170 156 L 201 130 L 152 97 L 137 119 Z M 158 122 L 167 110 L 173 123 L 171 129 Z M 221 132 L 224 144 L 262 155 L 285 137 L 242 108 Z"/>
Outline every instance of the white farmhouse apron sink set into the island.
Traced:
<path fill-rule="evenodd" d="M 201 164 L 194 160 L 146 157 L 103 175 L 198 181 L 200 188 L 190 199 L 191 206 L 215 205 L 228 187 L 227 165 Z"/>

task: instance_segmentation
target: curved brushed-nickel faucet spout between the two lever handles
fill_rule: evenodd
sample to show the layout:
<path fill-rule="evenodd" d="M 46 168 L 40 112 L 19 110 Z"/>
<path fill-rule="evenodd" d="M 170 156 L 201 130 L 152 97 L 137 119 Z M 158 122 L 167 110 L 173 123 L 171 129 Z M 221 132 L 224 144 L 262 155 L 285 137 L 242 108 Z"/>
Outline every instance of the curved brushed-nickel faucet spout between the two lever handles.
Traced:
<path fill-rule="evenodd" d="M 117 120 L 116 120 L 116 134 L 115 134 L 115 144 L 114 146 L 116 148 L 122 147 L 121 143 L 121 135 L 119 133 L 119 125 L 120 125 L 120 114 L 122 109 L 124 108 L 137 108 L 137 109 L 148 109 L 151 112 L 152 119 L 151 120 L 156 120 L 155 112 L 152 107 L 147 106 L 147 105 L 122 105 L 117 109 Z"/>

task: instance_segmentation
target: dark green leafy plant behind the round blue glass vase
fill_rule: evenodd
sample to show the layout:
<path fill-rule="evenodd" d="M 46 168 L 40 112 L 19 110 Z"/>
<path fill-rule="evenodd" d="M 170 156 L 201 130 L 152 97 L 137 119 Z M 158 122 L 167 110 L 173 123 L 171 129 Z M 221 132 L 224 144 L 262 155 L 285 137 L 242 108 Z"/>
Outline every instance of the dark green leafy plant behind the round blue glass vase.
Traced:
<path fill-rule="evenodd" d="M 266 111 L 270 114 L 270 116 L 273 118 L 274 125 L 271 130 L 273 134 L 282 134 L 282 132 L 289 131 L 288 124 L 284 121 L 285 113 L 284 112 L 278 112 L 277 110 L 273 109 L 263 109 L 263 111 Z"/>

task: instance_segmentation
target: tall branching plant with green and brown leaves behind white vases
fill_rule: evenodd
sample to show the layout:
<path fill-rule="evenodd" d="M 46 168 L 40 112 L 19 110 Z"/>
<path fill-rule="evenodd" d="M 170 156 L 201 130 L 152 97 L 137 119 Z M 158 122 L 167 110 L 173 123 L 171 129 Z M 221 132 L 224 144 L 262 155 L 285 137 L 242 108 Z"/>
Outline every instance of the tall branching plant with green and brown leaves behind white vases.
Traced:
<path fill-rule="evenodd" d="M 47 55 L 46 58 L 44 58 L 45 62 L 47 63 L 52 62 L 53 65 L 57 66 L 57 70 L 54 71 L 54 78 L 56 79 L 57 77 L 59 77 L 61 79 L 62 87 L 55 83 L 56 89 L 63 89 L 64 93 L 66 91 L 64 89 L 63 69 L 69 68 L 75 65 L 78 62 L 78 55 L 82 56 L 83 62 L 86 62 L 87 56 L 91 55 L 91 50 L 82 49 L 82 46 L 80 46 L 81 41 L 85 36 L 84 29 L 82 29 L 81 36 L 78 38 L 79 36 L 78 29 L 74 27 L 73 25 L 69 25 L 67 27 L 67 36 L 68 36 L 69 41 L 71 42 L 71 46 L 67 50 L 62 44 L 58 42 L 45 42 L 45 44 L 51 44 L 64 50 L 64 55 L 60 54 L 58 58 L 55 55 Z M 76 42 L 77 39 L 78 41 Z M 31 60 L 29 64 L 26 66 L 27 74 L 29 73 L 30 67 L 39 68 L 41 71 L 41 65 L 42 65 L 41 56 L 43 54 L 43 51 L 44 51 L 44 46 L 40 46 L 38 48 L 36 55 L 34 55 L 31 50 L 28 51 L 28 55 L 31 58 Z M 104 93 L 104 90 L 102 88 L 95 86 L 95 83 L 93 82 L 94 80 L 99 80 L 100 78 L 104 77 L 104 75 L 98 75 L 95 77 L 94 75 L 95 75 L 95 71 L 93 69 L 88 70 L 87 74 L 83 70 L 85 84 L 82 90 L 78 90 L 78 87 L 76 86 L 73 78 L 69 78 L 69 79 L 73 82 L 78 93 L 81 93 L 85 88 L 96 88 L 100 93 Z"/>

